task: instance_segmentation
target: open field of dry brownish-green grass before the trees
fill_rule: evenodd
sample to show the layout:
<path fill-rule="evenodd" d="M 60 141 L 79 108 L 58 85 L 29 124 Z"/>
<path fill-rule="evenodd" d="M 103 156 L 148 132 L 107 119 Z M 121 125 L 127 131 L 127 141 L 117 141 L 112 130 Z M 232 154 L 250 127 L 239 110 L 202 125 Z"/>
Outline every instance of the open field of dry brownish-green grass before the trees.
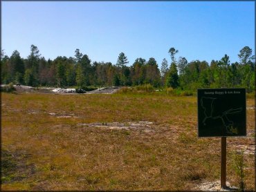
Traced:
<path fill-rule="evenodd" d="M 221 139 L 197 137 L 196 124 L 196 97 L 3 93 L 1 190 L 196 190 L 219 180 L 221 163 Z M 227 180 L 239 186 L 234 153 L 244 149 L 250 191 L 254 128 L 248 108 L 248 137 L 227 139 Z"/>

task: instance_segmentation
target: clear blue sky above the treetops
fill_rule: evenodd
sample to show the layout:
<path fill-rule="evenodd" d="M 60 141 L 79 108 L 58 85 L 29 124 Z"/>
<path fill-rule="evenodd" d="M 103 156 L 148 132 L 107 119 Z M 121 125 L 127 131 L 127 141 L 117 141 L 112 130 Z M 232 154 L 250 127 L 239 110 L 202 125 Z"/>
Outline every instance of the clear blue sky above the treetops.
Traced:
<path fill-rule="evenodd" d="M 125 52 L 170 62 L 168 50 L 188 61 L 239 61 L 244 46 L 255 52 L 255 1 L 2 1 L 1 48 L 28 57 L 34 44 L 46 59 L 73 57 L 116 64 Z"/>

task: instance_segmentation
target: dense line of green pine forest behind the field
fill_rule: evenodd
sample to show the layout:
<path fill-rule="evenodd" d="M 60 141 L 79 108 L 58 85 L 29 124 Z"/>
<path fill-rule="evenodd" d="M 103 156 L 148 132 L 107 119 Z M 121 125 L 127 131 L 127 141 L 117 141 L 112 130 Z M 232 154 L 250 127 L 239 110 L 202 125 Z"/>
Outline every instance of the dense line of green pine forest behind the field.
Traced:
<path fill-rule="evenodd" d="M 255 88 L 255 55 L 248 46 L 238 53 L 239 62 L 230 64 L 228 55 L 219 60 L 190 61 L 176 58 L 178 50 L 168 51 L 171 64 L 163 59 L 161 68 L 153 57 L 146 61 L 137 58 L 131 66 L 124 52 L 116 64 L 92 62 L 79 49 L 74 57 L 57 57 L 46 60 L 41 57 L 37 46 L 31 45 L 30 55 L 21 58 L 15 50 L 8 57 L 1 50 L 1 84 L 25 84 L 28 86 L 136 86 L 151 84 L 156 88 L 172 87 L 181 90 L 197 88 L 244 87 L 247 92 Z"/>

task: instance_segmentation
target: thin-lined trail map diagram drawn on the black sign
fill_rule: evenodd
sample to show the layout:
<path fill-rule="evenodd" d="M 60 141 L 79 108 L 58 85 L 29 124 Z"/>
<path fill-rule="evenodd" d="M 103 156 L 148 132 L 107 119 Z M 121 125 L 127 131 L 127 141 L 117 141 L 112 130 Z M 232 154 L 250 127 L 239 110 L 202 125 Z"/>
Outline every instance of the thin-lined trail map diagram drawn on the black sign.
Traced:
<path fill-rule="evenodd" d="M 234 127 L 234 122 L 230 120 L 230 116 L 241 113 L 242 108 L 226 108 L 225 111 L 220 111 L 223 102 L 214 97 L 201 97 L 201 107 L 203 108 L 203 125 L 206 125 L 208 119 L 221 119 L 223 126 L 226 128 L 226 133 L 237 135 L 238 130 Z"/>

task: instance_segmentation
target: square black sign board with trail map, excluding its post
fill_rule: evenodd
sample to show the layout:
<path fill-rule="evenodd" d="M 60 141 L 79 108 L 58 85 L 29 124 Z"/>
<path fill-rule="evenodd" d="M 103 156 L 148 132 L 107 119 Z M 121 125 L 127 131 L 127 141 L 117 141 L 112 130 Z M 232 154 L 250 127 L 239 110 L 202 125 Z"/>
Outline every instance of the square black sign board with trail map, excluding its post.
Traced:
<path fill-rule="evenodd" d="M 199 137 L 246 136 L 246 89 L 197 90 Z"/>

